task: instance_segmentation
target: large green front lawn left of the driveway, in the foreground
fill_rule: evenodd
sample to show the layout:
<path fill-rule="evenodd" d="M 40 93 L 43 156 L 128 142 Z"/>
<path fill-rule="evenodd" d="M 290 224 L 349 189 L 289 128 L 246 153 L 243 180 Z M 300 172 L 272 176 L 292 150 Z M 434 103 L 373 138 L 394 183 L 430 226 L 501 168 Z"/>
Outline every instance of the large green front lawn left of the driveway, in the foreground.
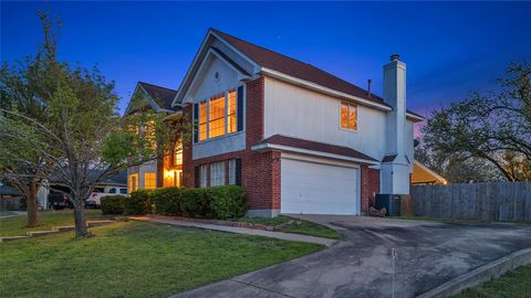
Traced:
<path fill-rule="evenodd" d="M 139 222 L 91 232 L 0 243 L 0 297 L 168 297 L 323 247 Z"/>

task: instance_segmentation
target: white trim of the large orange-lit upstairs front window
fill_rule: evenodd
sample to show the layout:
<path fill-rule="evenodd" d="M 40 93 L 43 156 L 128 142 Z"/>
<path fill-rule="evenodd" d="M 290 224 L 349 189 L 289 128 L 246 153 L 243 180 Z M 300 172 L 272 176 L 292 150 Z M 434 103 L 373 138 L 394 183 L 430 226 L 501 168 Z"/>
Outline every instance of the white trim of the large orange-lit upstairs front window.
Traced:
<path fill-rule="evenodd" d="M 242 87 L 242 96 L 243 96 L 243 100 L 242 100 L 242 115 L 241 115 L 241 118 L 242 118 L 242 129 L 241 130 L 238 130 L 238 88 L 239 87 Z M 229 115 L 228 115 L 228 111 L 229 111 L 229 92 L 230 91 L 235 91 L 236 92 L 236 131 L 233 132 L 228 132 L 229 131 L 229 125 L 228 125 L 228 121 L 229 121 Z M 217 95 L 223 93 L 225 94 L 225 134 L 221 135 L 221 136 L 217 136 L 217 137 L 214 137 L 211 138 L 209 135 L 209 131 L 210 131 L 210 99 L 216 97 Z M 211 140 L 217 140 L 217 139 L 220 139 L 220 138 L 225 138 L 225 137 L 230 137 L 230 136 L 235 136 L 235 135 L 238 135 L 238 134 L 241 134 L 241 132 L 244 132 L 246 131 L 246 95 L 247 95 L 247 87 L 244 84 L 240 84 L 240 85 L 237 85 L 236 87 L 231 87 L 231 88 L 228 88 L 228 89 L 225 89 L 223 92 L 218 92 L 218 93 L 215 93 L 214 95 L 211 96 L 208 96 L 206 99 L 200 99 L 200 100 L 196 100 L 195 103 L 197 103 L 197 108 L 200 109 L 201 107 L 201 103 L 206 103 L 206 114 L 207 114 L 207 121 L 206 121 L 206 129 L 207 129 L 207 134 L 206 134 L 206 138 L 204 140 L 201 140 L 201 128 L 200 128 L 200 123 L 199 123 L 199 116 L 200 116 L 200 111 L 198 110 L 197 113 L 197 119 L 194 119 L 194 123 L 197 124 L 197 131 L 192 131 L 194 136 L 192 136 L 192 139 L 195 140 L 196 138 L 196 134 L 197 134 L 197 141 L 195 143 L 202 143 L 202 142 L 207 142 L 207 141 L 211 141 Z"/>

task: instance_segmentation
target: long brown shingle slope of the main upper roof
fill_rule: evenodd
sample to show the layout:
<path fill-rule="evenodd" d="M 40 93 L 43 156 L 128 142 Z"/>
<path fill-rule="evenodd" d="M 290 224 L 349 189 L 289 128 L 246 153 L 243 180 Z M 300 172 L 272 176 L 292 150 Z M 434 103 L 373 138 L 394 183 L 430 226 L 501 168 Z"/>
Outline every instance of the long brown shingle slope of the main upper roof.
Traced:
<path fill-rule="evenodd" d="M 362 87 L 351 84 L 344 79 L 339 78 L 325 71 L 322 71 L 311 64 L 301 62 L 299 60 L 279 54 L 271 50 L 261 47 L 250 42 L 240 40 L 216 29 L 211 29 L 214 33 L 221 36 L 238 51 L 249 56 L 257 64 L 283 74 L 304 79 L 337 92 L 346 93 L 363 99 L 367 99 L 381 105 L 387 105 L 384 99 L 377 95 L 371 94 Z"/>

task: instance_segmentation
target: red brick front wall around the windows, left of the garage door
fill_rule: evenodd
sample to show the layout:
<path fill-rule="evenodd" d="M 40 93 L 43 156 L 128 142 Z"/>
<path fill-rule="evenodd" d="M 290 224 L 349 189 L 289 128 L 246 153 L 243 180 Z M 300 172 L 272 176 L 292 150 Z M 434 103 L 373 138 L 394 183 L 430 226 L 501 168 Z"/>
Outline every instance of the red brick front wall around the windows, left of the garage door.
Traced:
<path fill-rule="evenodd" d="M 194 187 L 196 166 L 226 161 L 226 181 L 228 183 L 228 160 L 241 158 L 241 184 L 249 195 L 250 209 L 280 209 L 280 152 L 256 152 L 251 147 L 263 140 L 263 85 L 259 77 L 247 83 L 246 89 L 246 149 L 225 155 L 191 160 L 191 141 L 183 152 L 184 184 Z M 191 119 L 192 107 L 186 106 L 184 115 Z M 207 183 L 209 180 L 207 167 Z M 208 185 L 208 184 L 207 184 Z"/>

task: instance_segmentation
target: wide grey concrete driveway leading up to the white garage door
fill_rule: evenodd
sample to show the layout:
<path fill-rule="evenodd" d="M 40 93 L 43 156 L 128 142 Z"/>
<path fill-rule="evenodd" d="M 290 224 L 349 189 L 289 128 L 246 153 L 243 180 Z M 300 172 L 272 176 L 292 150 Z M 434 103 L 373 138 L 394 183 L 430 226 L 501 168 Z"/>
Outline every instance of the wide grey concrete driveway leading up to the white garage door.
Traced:
<path fill-rule="evenodd" d="M 175 297 L 414 297 L 531 247 L 531 225 L 304 215 L 344 240 L 299 259 Z M 396 249 L 393 265 L 391 248 Z M 394 281 L 393 281 L 394 280 Z"/>

